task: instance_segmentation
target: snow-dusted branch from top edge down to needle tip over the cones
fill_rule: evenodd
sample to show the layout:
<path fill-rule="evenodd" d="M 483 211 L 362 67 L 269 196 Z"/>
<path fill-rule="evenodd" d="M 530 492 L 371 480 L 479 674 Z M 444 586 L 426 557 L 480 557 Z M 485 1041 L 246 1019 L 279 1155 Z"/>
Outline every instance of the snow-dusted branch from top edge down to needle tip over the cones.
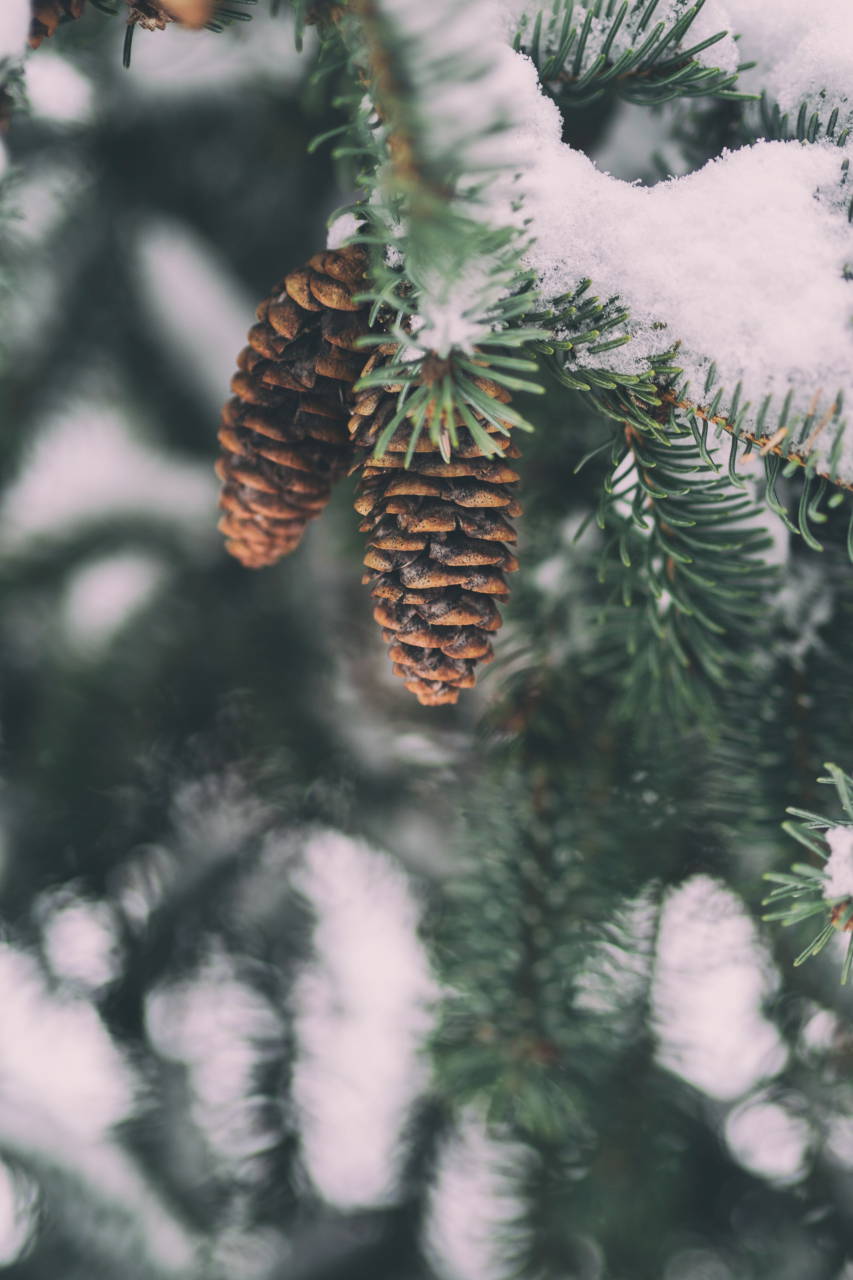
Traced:
<path fill-rule="evenodd" d="M 424 15 L 409 0 L 356 0 L 342 32 L 374 108 L 370 115 L 359 101 L 353 120 L 369 191 L 352 210 L 355 239 L 371 250 L 371 319 L 396 343 L 374 339 L 389 358 L 360 387 L 396 385 L 400 421 L 425 425 L 438 443 L 448 424 L 470 425 L 483 410 L 478 379 L 540 389 L 529 376 L 535 364 L 517 355 L 544 335 L 526 319 L 535 296 L 524 236 L 492 225 L 483 204 L 507 165 L 492 143 L 508 129 L 511 105 L 489 90 L 479 119 L 448 119 L 443 96 L 492 72 L 470 15 L 460 19 L 453 5 Z M 512 410 L 505 417 L 528 425 Z"/>

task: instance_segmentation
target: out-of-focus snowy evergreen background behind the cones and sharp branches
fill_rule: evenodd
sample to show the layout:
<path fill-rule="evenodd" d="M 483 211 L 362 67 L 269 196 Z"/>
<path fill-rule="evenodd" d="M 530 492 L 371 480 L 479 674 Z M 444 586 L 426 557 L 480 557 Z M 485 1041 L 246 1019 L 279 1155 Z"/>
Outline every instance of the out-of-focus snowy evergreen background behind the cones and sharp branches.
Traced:
<path fill-rule="evenodd" d="M 0 1267 L 849 1280 L 850 997 L 756 923 L 785 805 L 850 760 L 843 521 L 820 557 L 772 525 L 710 719 L 644 708 L 574 541 L 607 428 L 553 387 L 500 659 L 419 708 L 348 484 L 274 570 L 215 530 L 255 302 L 350 197 L 311 40 L 259 12 L 124 72 L 120 26 L 31 56 L 6 138 Z M 736 113 L 566 136 L 652 182 Z"/>

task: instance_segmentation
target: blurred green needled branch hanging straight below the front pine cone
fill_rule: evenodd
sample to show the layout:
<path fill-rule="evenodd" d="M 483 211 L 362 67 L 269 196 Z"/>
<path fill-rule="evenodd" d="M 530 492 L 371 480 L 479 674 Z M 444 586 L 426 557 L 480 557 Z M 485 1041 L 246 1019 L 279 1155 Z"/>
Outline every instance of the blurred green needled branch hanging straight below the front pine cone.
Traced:
<path fill-rule="evenodd" d="M 590 941 L 592 901 L 581 906 L 590 887 L 581 856 L 553 847 L 543 815 L 514 790 L 512 808 L 501 797 L 502 824 L 478 814 L 488 852 L 448 886 L 435 922 L 448 993 L 433 1053 L 438 1085 L 456 1105 L 478 1098 L 489 1123 L 552 1140 L 583 1125 L 575 1084 L 584 1023 L 567 1010 Z"/>

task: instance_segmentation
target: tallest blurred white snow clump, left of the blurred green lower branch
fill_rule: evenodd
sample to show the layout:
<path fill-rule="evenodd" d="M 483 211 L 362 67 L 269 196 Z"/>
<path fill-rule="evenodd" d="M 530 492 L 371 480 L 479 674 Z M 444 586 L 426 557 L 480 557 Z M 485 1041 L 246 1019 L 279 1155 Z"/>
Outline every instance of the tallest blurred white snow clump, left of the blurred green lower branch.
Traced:
<path fill-rule="evenodd" d="M 382 1203 L 437 996 L 419 905 L 388 858 L 333 831 L 309 842 L 297 884 L 316 914 L 316 959 L 295 993 L 306 1165 L 327 1199 Z"/>

